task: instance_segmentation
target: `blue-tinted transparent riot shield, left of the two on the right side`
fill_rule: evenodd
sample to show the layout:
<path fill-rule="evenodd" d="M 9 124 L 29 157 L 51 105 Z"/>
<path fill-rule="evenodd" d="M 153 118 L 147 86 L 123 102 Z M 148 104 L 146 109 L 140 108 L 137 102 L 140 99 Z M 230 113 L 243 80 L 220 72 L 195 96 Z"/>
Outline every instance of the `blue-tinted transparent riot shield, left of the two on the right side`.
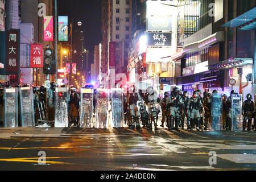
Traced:
<path fill-rule="evenodd" d="M 212 130 L 222 130 L 222 97 L 220 94 L 212 96 Z"/>

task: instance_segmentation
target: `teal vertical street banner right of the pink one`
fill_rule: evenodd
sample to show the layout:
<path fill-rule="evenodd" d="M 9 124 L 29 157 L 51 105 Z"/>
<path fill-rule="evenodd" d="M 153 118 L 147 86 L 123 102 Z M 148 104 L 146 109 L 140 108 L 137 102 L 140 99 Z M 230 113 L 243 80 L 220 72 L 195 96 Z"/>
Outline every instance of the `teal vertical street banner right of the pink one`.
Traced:
<path fill-rule="evenodd" d="M 68 16 L 59 16 L 59 41 L 68 41 Z"/>

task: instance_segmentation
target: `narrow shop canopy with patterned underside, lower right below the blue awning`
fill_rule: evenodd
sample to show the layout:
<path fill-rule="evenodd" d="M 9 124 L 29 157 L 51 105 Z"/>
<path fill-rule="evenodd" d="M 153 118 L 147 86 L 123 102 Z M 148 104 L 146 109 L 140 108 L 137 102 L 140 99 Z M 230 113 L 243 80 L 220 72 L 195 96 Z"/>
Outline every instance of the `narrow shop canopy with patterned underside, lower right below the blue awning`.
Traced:
<path fill-rule="evenodd" d="M 228 59 L 225 61 L 221 61 L 220 63 L 212 64 L 209 66 L 209 69 L 230 69 L 236 67 L 242 67 L 244 65 L 253 64 L 253 59 Z"/>

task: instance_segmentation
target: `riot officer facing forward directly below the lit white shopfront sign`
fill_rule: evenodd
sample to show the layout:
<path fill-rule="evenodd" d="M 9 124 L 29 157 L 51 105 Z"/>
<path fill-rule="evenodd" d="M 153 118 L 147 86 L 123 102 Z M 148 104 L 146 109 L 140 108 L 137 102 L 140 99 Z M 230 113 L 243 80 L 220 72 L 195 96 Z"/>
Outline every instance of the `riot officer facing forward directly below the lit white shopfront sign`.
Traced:
<path fill-rule="evenodd" d="M 195 127 L 195 124 L 196 124 L 196 130 L 200 131 L 200 124 L 201 124 L 200 109 L 202 108 L 203 103 L 201 102 L 197 91 L 193 92 L 193 97 L 191 97 L 189 99 L 188 103 L 189 103 L 188 109 L 190 111 L 190 122 L 191 122 L 190 129 L 193 130 L 193 128 Z M 203 109 L 204 109 L 204 107 L 203 107 Z"/>

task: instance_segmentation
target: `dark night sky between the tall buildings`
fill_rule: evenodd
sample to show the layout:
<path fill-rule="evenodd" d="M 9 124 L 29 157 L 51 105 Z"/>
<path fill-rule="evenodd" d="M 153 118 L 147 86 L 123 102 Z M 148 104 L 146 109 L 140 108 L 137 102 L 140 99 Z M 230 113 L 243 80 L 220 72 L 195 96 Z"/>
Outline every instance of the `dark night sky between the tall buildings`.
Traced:
<path fill-rule="evenodd" d="M 74 29 L 77 28 L 76 24 L 79 20 L 82 22 L 82 30 L 85 32 L 85 48 L 91 53 L 93 53 L 94 46 L 101 42 L 101 1 L 58 0 L 58 15 L 69 16 L 69 22 L 74 18 Z"/>

